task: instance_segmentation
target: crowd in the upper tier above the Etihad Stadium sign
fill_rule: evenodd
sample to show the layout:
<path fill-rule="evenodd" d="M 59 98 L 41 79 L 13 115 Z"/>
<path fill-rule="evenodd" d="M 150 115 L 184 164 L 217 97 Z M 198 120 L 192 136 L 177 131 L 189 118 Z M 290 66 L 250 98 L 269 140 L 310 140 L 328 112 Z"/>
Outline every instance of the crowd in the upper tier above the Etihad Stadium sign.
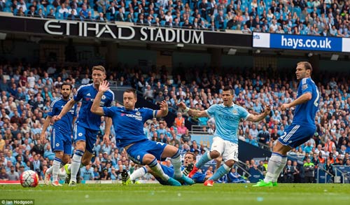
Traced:
<path fill-rule="evenodd" d="M 349 0 L 1 0 L 0 11 L 155 27 L 349 37 Z"/>

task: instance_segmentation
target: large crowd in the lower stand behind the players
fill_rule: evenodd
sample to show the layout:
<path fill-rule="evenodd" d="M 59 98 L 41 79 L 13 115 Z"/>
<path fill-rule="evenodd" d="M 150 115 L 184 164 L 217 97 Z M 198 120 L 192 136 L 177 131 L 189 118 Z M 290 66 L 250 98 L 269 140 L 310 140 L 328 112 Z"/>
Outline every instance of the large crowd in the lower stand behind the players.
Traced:
<path fill-rule="evenodd" d="M 169 73 L 165 67 L 152 66 L 141 71 L 138 66 L 118 64 L 107 69 L 109 80 L 117 81 L 118 86 L 131 86 L 144 92 L 144 97 L 155 104 L 165 99 L 176 112 L 173 125 L 154 118 L 144 125 L 148 139 L 178 146 L 181 153 L 191 151 L 200 157 L 209 146 L 191 139 L 184 126 L 188 120 L 176 104 L 184 101 L 190 108 L 206 109 L 222 102 L 224 85 L 232 86 L 235 104 L 251 113 L 262 112 L 262 105 L 272 106 L 272 113 L 259 123 L 240 122 L 239 139 L 255 146 L 271 148 L 272 143 L 283 134 L 283 130 L 293 120 L 293 110 L 281 111 L 282 103 L 295 99 L 297 81 L 293 69 L 279 72 L 272 68 L 264 69 L 211 69 L 208 67 L 179 68 Z M 90 82 L 90 68 L 87 66 L 32 66 L 31 64 L 0 64 L 0 178 L 10 178 L 11 171 L 21 174 L 31 169 L 41 178 L 45 169 L 52 166 L 55 157 L 50 150 L 50 129 L 45 130 L 47 139 L 40 140 L 43 121 L 50 110 L 50 103 L 57 99 L 62 82 L 73 85 L 73 93 Z M 319 88 L 319 111 L 316 114 L 317 130 L 314 137 L 290 152 L 290 156 L 307 157 L 317 164 L 349 164 L 349 79 L 346 74 L 314 73 Z M 150 91 L 151 90 L 151 91 Z M 80 104 L 78 104 L 78 109 Z M 191 118 L 203 127 L 203 132 L 212 134 L 215 122 L 212 118 Z M 104 135 L 104 118 L 95 146 L 94 161 L 91 167 L 82 168 L 84 179 L 115 179 L 122 169 L 133 171 L 138 166 L 127 157 L 123 149 L 116 148 L 114 129 L 111 129 L 111 143 L 100 140 Z M 72 147 L 73 149 L 73 147 Z M 312 157 L 311 157 L 312 156 Z M 316 157 L 314 157 L 316 156 Z M 318 158 L 317 158 L 318 157 Z M 164 162 L 169 164 L 171 162 Z M 170 165 L 171 166 L 171 165 Z M 15 174 L 10 179 L 15 178 Z M 3 177 L 5 176 L 5 177 Z"/>

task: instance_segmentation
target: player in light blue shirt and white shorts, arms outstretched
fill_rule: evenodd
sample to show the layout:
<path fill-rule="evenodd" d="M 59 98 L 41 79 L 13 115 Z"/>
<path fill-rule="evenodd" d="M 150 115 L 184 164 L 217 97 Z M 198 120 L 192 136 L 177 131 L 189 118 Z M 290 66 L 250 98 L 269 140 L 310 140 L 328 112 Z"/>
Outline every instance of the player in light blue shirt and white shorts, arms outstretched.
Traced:
<path fill-rule="evenodd" d="M 183 102 L 178 104 L 180 108 L 183 108 L 190 115 L 195 117 L 208 117 L 212 115 L 215 119 L 216 130 L 213 143 L 211 144 L 211 150 L 202 155 L 200 160 L 195 164 L 195 167 L 193 167 L 193 170 L 188 174 L 188 177 L 192 178 L 205 163 L 222 156 L 225 163 L 216 170 L 213 176 L 204 182 L 205 186 L 213 186 L 214 181 L 228 174 L 235 162 L 238 161 L 237 130 L 239 121 L 244 119 L 251 122 L 258 122 L 264 119 L 270 112 L 269 106 L 265 105 L 264 113 L 259 115 L 248 113 L 245 108 L 233 103 L 233 90 L 229 86 L 224 87 L 222 97 L 223 104 L 214 104 L 205 111 L 187 108 Z"/>

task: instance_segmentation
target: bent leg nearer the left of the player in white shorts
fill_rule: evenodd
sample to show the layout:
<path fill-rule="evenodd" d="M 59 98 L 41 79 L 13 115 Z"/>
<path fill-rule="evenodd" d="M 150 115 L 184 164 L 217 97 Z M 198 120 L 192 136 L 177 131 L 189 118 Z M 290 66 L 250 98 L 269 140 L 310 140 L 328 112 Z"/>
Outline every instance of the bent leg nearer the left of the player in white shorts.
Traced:
<path fill-rule="evenodd" d="M 195 167 L 193 167 L 190 174 L 188 174 L 188 177 L 192 178 L 193 175 L 196 174 L 198 169 L 200 169 L 204 164 L 206 164 L 212 159 L 219 157 L 221 153 L 223 153 L 223 145 L 224 140 L 218 136 L 215 136 L 213 138 L 213 143 L 211 144 L 210 152 L 206 152 L 202 155 L 202 157 L 200 157 L 200 160 L 198 160 L 198 162 L 195 164 Z"/>

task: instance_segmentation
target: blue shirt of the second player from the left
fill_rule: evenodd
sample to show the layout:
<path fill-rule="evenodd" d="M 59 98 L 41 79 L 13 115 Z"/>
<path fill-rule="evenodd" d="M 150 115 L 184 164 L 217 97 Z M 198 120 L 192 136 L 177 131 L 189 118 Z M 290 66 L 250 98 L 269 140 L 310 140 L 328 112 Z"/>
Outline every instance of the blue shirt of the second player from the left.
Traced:
<path fill-rule="evenodd" d="M 94 88 L 94 85 L 87 84 L 87 85 L 81 85 L 76 95 L 74 95 L 73 99 L 74 101 L 80 101 L 81 100 L 81 107 L 78 115 L 78 120 L 76 122 L 79 126 L 86 127 L 88 129 L 92 130 L 99 130 L 99 126 L 101 125 L 101 116 L 96 115 L 90 111 L 92 103 L 94 102 L 94 97 L 96 97 L 98 90 Z M 101 103 L 99 106 L 111 106 L 112 102 L 114 101 L 114 93 L 111 90 L 107 90 L 104 92 L 104 95 L 102 95 Z"/>

